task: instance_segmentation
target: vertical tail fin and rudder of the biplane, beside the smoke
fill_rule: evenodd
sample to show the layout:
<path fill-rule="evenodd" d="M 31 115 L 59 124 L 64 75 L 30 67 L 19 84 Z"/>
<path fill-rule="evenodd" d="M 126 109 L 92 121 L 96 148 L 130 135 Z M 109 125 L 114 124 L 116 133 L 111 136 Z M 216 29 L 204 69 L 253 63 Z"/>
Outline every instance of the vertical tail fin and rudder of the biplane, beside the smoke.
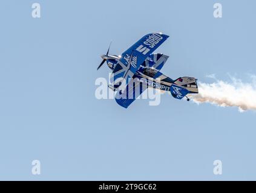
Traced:
<path fill-rule="evenodd" d="M 174 80 L 174 84 L 185 87 L 189 93 L 199 93 L 197 79 L 192 77 L 180 77 Z"/>

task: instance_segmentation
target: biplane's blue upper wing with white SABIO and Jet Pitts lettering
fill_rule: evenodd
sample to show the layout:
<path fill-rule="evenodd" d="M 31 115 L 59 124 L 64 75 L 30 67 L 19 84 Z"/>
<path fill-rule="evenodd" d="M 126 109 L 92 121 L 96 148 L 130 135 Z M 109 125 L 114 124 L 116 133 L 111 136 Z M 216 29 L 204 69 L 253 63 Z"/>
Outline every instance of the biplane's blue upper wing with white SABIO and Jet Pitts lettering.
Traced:
<path fill-rule="evenodd" d="M 133 77 L 140 65 L 152 54 L 169 36 L 162 33 L 150 33 L 143 36 L 131 48 L 123 52 L 122 57 L 114 68 L 110 82 L 121 92 L 125 90 L 130 78 Z"/>

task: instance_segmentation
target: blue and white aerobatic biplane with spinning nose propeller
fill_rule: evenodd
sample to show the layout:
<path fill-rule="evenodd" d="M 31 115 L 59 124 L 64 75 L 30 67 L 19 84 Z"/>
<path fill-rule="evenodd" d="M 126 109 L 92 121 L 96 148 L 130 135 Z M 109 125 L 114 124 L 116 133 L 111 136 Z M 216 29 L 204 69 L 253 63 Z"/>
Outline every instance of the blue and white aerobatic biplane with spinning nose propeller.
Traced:
<path fill-rule="evenodd" d="M 116 92 L 116 102 L 122 107 L 129 107 L 148 87 L 171 92 L 174 98 L 184 96 L 189 101 L 189 93 L 199 93 L 197 79 L 180 77 L 172 80 L 160 72 L 168 55 L 153 53 L 169 36 L 162 33 L 150 33 L 134 43 L 122 55 L 102 55 L 102 63 L 107 62 L 113 71 L 108 87 Z M 110 43 L 111 45 L 111 43 Z"/>

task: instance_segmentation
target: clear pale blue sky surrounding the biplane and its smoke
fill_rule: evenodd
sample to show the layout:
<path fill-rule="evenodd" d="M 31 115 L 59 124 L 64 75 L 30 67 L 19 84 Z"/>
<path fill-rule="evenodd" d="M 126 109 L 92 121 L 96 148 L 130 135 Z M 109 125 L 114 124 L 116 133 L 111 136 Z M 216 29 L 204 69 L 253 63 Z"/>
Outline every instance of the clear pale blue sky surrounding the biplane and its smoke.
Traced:
<path fill-rule="evenodd" d="M 31 5 L 41 4 L 41 18 Z M 223 5 L 222 19 L 213 5 Z M 162 31 L 171 78 L 255 69 L 255 1 L 1 1 L 1 180 L 256 180 L 255 112 L 178 101 L 129 109 L 94 96 L 121 54 Z M 41 161 L 41 175 L 31 162 Z M 222 160 L 223 174 L 212 172 Z"/>

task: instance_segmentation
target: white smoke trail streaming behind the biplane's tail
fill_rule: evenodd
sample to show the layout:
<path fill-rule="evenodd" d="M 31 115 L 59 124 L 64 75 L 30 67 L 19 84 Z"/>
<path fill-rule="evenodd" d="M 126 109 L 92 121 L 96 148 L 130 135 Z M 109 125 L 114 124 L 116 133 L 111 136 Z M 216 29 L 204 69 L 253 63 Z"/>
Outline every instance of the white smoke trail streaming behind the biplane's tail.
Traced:
<path fill-rule="evenodd" d="M 240 112 L 256 110 L 256 76 L 251 76 L 250 83 L 243 83 L 240 79 L 231 78 L 231 83 L 215 79 L 214 83 L 199 82 L 199 94 L 191 95 L 197 103 L 211 103 L 221 107 L 238 107 Z"/>

